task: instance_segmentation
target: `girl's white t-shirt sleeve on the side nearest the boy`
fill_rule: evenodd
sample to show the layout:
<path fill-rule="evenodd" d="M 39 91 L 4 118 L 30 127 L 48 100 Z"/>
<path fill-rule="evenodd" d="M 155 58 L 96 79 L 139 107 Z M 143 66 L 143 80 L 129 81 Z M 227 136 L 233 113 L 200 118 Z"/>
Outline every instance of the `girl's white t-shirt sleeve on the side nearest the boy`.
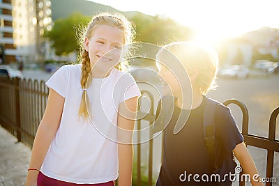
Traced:
<path fill-rule="evenodd" d="M 123 84 L 120 102 L 142 95 L 134 77 L 130 73 L 125 73 L 121 78 L 123 78 Z"/>

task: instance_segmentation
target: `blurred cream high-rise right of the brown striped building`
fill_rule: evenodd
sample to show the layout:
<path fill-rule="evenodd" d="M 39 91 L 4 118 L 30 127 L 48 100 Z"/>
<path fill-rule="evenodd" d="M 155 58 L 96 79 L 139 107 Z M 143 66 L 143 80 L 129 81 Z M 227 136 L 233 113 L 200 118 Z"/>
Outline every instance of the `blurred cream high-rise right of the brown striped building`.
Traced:
<path fill-rule="evenodd" d="M 45 42 L 43 34 L 51 29 L 52 11 L 49 0 L 0 0 L 9 1 L 14 56 L 24 63 L 43 62 Z M 1 4 L 1 3 L 0 3 Z M 6 3 L 2 3 L 6 5 Z M 10 25 L 10 26 L 12 26 Z M 7 49 L 5 49 L 8 54 Z M 9 62 L 14 62 L 9 61 Z"/>

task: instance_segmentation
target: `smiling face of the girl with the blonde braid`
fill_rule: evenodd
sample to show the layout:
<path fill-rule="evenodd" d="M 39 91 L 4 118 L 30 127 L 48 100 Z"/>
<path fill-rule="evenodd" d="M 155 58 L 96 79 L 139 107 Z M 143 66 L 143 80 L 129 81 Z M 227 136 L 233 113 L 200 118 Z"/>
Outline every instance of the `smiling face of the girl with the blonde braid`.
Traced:
<path fill-rule="evenodd" d="M 91 38 L 85 38 L 84 49 L 89 52 L 91 68 L 96 74 L 107 75 L 119 63 L 124 33 L 115 26 L 99 25 Z"/>

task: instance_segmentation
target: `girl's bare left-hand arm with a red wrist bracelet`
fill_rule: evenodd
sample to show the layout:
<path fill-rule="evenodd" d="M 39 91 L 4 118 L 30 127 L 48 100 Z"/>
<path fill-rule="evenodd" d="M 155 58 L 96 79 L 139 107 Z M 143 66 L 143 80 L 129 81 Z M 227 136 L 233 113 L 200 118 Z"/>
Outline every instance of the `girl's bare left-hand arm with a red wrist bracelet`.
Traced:
<path fill-rule="evenodd" d="M 45 114 L 40 121 L 40 125 L 33 142 L 29 169 L 40 170 L 40 166 L 43 164 L 43 160 L 45 159 L 47 150 L 50 147 L 50 143 L 52 142 L 52 139 L 54 139 L 56 131 L 59 127 L 64 100 L 65 98 L 50 88 Z M 37 178 L 38 171 L 28 171 L 25 185 L 37 185 Z"/>

